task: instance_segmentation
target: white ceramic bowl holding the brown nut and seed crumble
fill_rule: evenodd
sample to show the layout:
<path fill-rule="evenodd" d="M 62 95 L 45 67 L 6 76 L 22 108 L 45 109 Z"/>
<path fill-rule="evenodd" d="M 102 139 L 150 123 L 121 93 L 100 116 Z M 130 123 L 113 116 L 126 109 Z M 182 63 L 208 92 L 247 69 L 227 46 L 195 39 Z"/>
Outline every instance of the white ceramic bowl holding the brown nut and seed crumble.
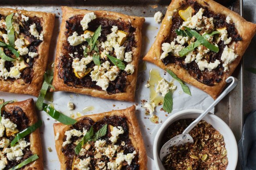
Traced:
<path fill-rule="evenodd" d="M 154 154 L 154 161 L 156 163 L 157 170 L 165 170 L 160 158 L 159 153 L 161 149 L 161 142 L 165 130 L 174 122 L 180 119 L 186 118 L 197 118 L 199 114 L 203 113 L 203 110 L 198 109 L 187 109 L 184 111 L 179 111 L 177 113 L 172 114 L 166 121 L 164 121 L 163 125 L 159 128 L 158 132 L 156 133 L 156 137 L 154 140 L 153 146 L 153 154 Z M 213 126 L 220 134 L 224 137 L 225 147 L 228 153 L 228 167 L 227 170 L 235 170 L 237 160 L 238 160 L 238 148 L 237 143 L 235 140 L 235 136 L 228 125 L 222 121 L 219 117 L 214 114 L 207 114 L 204 118 L 204 121 L 209 123 Z"/>

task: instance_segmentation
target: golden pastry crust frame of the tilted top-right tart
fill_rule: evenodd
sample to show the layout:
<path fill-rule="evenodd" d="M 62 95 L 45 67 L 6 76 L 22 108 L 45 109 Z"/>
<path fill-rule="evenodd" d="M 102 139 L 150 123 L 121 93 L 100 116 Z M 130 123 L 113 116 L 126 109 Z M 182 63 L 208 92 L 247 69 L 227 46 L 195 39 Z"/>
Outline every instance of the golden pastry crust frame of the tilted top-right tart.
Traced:
<path fill-rule="evenodd" d="M 161 28 L 156 36 L 156 40 L 153 43 L 151 49 L 143 58 L 145 61 L 152 62 L 159 66 L 162 69 L 170 69 L 172 70 L 181 80 L 185 81 L 186 83 L 192 84 L 193 86 L 205 91 L 206 93 L 210 94 L 211 97 L 216 99 L 219 94 L 221 93 L 222 89 L 226 85 L 225 80 L 228 76 L 234 72 L 235 68 L 238 66 L 242 55 L 244 54 L 245 50 L 247 49 L 249 43 L 251 42 L 253 35 L 256 33 L 256 24 L 251 22 L 245 21 L 239 14 L 235 13 L 232 10 L 220 5 L 219 3 L 214 2 L 213 0 L 195 0 L 199 4 L 208 7 L 209 10 L 213 11 L 215 14 L 224 14 L 226 16 L 231 17 L 231 20 L 235 23 L 235 28 L 238 31 L 238 34 L 242 37 L 242 41 L 238 41 L 235 44 L 235 53 L 238 54 L 238 57 L 229 64 L 229 71 L 224 72 L 223 79 L 214 86 L 207 86 L 206 84 L 200 83 L 192 76 L 189 75 L 188 71 L 181 66 L 175 64 L 167 64 L 160 60 L 161 56 L 161 43 L 169 34 L 172 26 L 172 20 L 168 20 L 168 16 L 173 15 L 173 10 L 178 9 L 180 4 L 183 0 L 172 0 L 171 4 L 169 5 L 164 20 L 162 21 Z"/>

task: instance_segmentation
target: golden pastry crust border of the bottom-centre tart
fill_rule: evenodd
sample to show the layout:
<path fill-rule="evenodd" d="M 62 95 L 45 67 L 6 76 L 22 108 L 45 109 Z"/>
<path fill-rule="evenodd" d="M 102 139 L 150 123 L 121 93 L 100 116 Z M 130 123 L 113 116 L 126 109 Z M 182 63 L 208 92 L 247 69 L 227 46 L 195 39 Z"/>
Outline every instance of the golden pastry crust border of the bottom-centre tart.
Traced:
<path fill-rule="evenodd" d="M 146 149 L 144 146 L 144 142 L 142 139 L 142 134 L 140 132 L 139 128 L 139 123 L 137 121 L 136 115 L 135 115 L 135 106 L 133 105 L 130 108 L 126 108 L 123 110 L 116 110 L 116 111 L 109 111 L 109 112 L 104 112 L 100 114 L 91 114 L 91 115 L 86 115 L 77 118 L 79 121 L 80 119 L 84 117 L 89 117 L 93 121 L 98 121 L 104 118 L 105 116 L 125 116 L 127 118 L 127 124 L 129 128 L 129 138 L 132 141 L 132 145 L 135 148 L 136 152 L 139 153 L 139 167 L 140 170 L 147 170 L 147 155 L 146 155 Z M 57 133 L 60 133 L 59 138 L 55 140 L 55 147 L 57 150 L 57 155 L 60 160 L 60 169 L 65 170 L 66 169 L 66 158 L 64 154 L 61 152 L 62 148 L 62 143 L 64 139 L 64 133 L 70 129 L 70 126 L 68 125 L 63 125 L 62 123 L 55 123 L 53 125 L 54 128 L 54 135 L 56 136 Z"/>

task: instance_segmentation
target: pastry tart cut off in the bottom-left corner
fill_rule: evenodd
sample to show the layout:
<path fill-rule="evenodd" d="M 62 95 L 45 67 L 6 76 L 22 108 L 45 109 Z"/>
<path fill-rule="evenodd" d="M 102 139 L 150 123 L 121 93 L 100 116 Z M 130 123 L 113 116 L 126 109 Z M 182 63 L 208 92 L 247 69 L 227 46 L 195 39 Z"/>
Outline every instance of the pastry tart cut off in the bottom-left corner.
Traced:
<path fill-rule="evenodd" d="M 39 158 L 26 164 L 22 169 L 43 170 L 39 128 L 19 139 L 14 146 L 11 146 L 11 142 L 18 132 L 34 125 L 38 121 L 33 99 L 6 104 L 1 110 L 0 167 L 4 170 L 9 170 L 32 155 L 37 154 Z"/>

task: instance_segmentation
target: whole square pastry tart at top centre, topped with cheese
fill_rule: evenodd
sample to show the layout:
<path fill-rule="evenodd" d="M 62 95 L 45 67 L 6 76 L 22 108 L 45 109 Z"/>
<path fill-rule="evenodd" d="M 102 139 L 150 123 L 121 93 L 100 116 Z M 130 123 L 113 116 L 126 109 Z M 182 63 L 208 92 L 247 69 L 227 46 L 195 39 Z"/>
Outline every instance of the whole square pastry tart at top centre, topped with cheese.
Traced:
<path fill-rule="evenodd" d="M 57 91 L 134 101 L 145 19 L 62 7 L 53 86 Z"/>

